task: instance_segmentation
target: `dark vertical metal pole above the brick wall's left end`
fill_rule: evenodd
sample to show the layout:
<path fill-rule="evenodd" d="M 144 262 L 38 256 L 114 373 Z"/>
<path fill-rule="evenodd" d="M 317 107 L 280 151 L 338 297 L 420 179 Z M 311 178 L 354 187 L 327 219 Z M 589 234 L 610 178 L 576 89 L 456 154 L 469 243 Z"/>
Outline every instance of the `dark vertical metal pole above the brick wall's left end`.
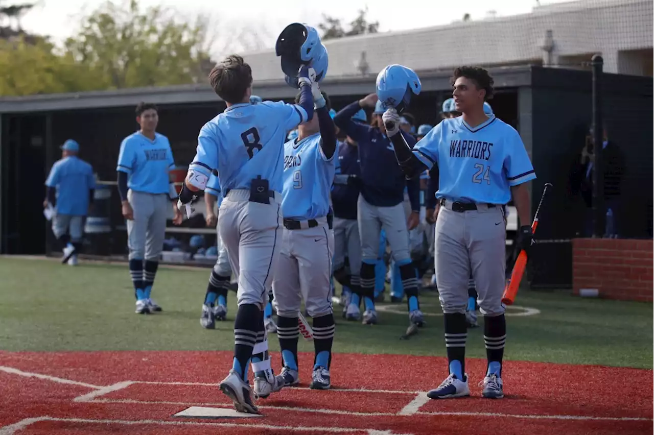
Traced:
<path fill-rule="evenodd" d="M 593 237 L 605 233 L 606 212 L 604 208 L 604 162 L 602 161 L 602 69 L 604 59 L 593 56 Z"/>

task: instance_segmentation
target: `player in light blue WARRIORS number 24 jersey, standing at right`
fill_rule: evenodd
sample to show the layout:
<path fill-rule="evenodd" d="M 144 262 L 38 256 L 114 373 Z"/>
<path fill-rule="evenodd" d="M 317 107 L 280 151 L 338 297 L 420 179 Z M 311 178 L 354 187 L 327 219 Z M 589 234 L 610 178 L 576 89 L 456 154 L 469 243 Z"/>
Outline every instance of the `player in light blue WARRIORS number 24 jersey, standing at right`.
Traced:
<path fill-rule="evenodd" d="M 511 197 L 523 226 L 519 248 L 529 248 L 533 235 L 526 182 L 536 178 L 520 135 L 493 115 L 483 103 L 493 93 L 485 69 L 460 67 L 453 76 L 458 118 L 441 121 L 411 148 L 398 135 L 399 116 L 383 115 L 398 162 L 407 178 L 426 168 L 439 167 L 440 208 L 436 221 L 436 274 L 445 319 L 449 376 L 428 393 L 430 398 L 470 395 L 465 372 L 467 284 L 472 272 L 481 314 L 488 359 L 483 379 L 485 398 L 504 397 L 502 357 L 506 341 L 504 291 L 505 241 L 502 205 Z"/>

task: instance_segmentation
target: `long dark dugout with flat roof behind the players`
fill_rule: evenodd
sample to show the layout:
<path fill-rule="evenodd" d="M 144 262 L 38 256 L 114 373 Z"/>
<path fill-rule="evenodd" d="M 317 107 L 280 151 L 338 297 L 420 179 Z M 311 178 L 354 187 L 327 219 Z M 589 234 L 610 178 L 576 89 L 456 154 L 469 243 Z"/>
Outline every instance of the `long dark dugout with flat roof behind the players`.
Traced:
<path fill-rule="evenodd" d="M 583 221 L 583 207 L 568 183 L 568 168 L 580 152 L 591 120 L 591 73 L 543 67 L 490 70 L 496 96 L 490 101 L 498 118 L 517 128 L 538 174 L 532 184 L 532 211 L 542 185 L 554 185 L 538 227 L 532 285 L 569 286 L 572 281 L 570 239 Z M 422 93 L 410 112 L 417 123 L 438 122 L 441 102 L 451 95 L 450 71 L 419 72 Z M 374 91 L 375 76 L 327 78 L 324 89 L 332 105 L 347 103 Z M 264 99 L 287 99 L 295 91 L 279 80 L 256 82 Z M 50 229 L 42 213 L 44 180 L 67 138 L 81 145 L 99 179 L 113 182 L 122 138 L 137 128 L 134 107 L 151 101 L 160 107 L 158 130 L 169 137 L 175 161 L 188 165 L 198 131 L 224 103 L 209 86 L 124 89 L 63 95 L 0 99 L 0 252 L 50 252 Z M 604 122 L 610 138 L 625 152 L 623 207 L 617 213 L 618 233 L 652 236 L 654 144 L 646 125 L 654 107 L 654 78 L 604 74 Z M 111 188 L 111 226 L 105 255 L 124 255 L 126 234 L 118 195 Z M 199 224 L 201 225 L 201 223 Z"/>

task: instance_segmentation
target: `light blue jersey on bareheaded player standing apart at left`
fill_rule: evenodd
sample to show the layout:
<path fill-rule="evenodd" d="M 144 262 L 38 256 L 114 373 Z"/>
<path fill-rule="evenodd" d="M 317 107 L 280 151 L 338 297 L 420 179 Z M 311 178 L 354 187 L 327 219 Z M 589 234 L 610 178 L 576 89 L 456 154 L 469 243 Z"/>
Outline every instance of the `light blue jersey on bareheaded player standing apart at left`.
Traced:
<path fill-rule="evenodd" d="M 168 171 L 175 168 L 173 150 L 168 138 L 154 133 L 154 140 L 140 131 L 124 138 L 120 144 L 118 167 L 129 176 L 129 189 L 144 193 L 168 193 Z"/>

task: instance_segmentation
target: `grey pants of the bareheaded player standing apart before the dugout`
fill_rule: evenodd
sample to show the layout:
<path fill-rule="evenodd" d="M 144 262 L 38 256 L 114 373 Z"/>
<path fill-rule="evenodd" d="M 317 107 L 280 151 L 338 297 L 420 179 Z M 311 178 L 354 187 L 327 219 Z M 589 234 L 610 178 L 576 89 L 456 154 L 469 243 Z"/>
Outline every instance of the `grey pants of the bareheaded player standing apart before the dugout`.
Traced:
<path fill-rule="evenodd" d="M 127 221 L 129 259 L 158 261 L 163 251 L 170 198 L 166 193 L 155 195 L 129 189 L 127 199 L 134 212 L 134 219 Z"/>

